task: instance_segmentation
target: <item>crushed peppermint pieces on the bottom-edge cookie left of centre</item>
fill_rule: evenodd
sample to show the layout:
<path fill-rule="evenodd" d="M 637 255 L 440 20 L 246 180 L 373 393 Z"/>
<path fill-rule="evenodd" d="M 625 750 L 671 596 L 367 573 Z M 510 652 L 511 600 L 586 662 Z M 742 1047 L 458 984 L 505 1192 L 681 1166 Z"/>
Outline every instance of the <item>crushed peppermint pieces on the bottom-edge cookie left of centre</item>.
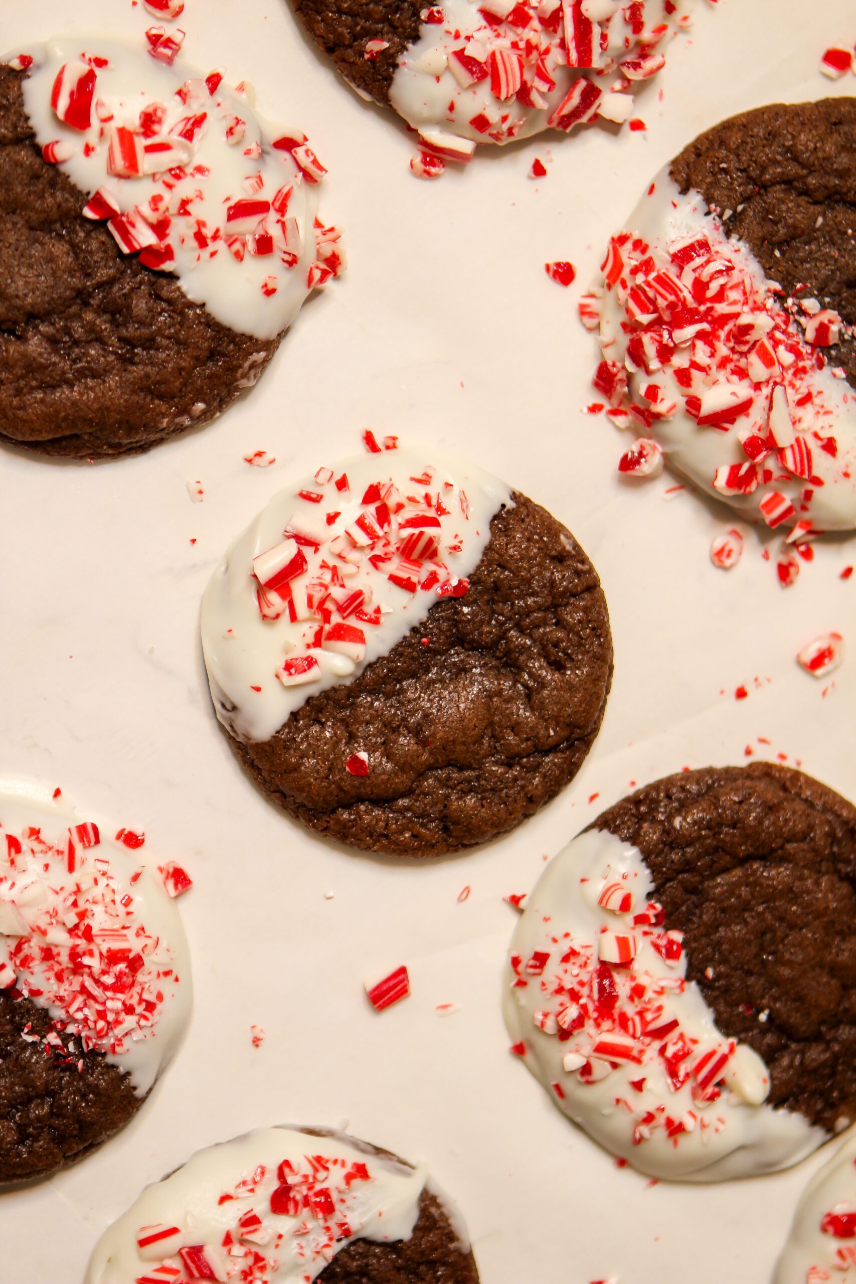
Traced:
<path fill-rule="evenodd" d="M 218 1242 L 199 1243 L 199 1231 L 194 1234 L 181 1219 L 140 1226 L 137 1254 L 151 1266 L 135 1284 L 267 1284 L 287 1263 L 304 1263 L 295 1278 L 311 1284 L 343 1242 L 359 1231 L 357 1206 L 372 1180 L 367 1165 L 335 1156 L 282 1159 L 276 1171 L 258 1165 L 221 1193 L 218 1206 L 235 1208 Z"/>

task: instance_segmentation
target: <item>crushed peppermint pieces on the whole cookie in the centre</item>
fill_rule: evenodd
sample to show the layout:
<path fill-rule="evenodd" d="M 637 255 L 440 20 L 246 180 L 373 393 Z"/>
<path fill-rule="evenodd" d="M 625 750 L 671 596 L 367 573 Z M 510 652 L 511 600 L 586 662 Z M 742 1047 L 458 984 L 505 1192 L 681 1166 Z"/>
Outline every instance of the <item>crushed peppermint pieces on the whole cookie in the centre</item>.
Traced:
<path fill-rule="evenodd" d="M 371 433 L 364 439 L 380 452 Z M 386 442 L 395 448 L 395 438 Z M 347 473 L 318 469 L 314 485 L 295 496 L 303 502 L 286 523 L 281 542 L 253 557 L 262 619 L 285 616 L 305 624 L 299 638 L 286 642 L 289 655 L 277 670 L 284 686 L 318 682 L 322 663 L 331 656 L 350 672 L 359 664 L 367 632 L 393 610 L 373 602 L 372 579 L 386 580 L 408 596 L 443 598 L 467 592 L 470 582 L 454 575 L 445 560 L 463 547 L 470 515 L 466 492 L 432 467 L 408 483 L 399 490 L 379 466 L 377 480 L 357 497 Z M 343 510 L 349 517 L 344 526 Z M 447 523 L 444 530 L 447 517 L 459 525 Z M 364 772 L 354 767 L 353 774 Z"/>

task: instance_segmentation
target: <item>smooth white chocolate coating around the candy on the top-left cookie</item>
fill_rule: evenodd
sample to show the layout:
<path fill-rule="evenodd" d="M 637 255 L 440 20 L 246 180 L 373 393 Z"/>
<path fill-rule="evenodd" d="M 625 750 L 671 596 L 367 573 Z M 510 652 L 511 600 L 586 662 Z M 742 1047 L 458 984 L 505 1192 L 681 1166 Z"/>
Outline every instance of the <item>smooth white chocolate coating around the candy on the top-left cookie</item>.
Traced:
<path fill-rule="evenodd" d="M 204 73 L 196 67 L 181 56 L 172 64 L 159 62 L 149 55 L 141 40 L 96 33 L 58 36 L 44 45 L 15 50 L 15 54 L 22 53 L 33 58 L 23 81 L 23 95 L 36 139 L 41 146 L 60 140 L 73 149 L 68 159 L 62 160 L 62 168 L 81 191 L 91 196 L 101 190 L 122 213 L 149 211 L 155 223 L 149 202 L 166 200 L 172 225 L 164 239 L 175 254 L 173 270 L 185 294 L 241 334 L 273 339 L 286 330 L 311 293 L 308 273 L 318 257 L 313 229 L 317 187 L 304 181 L 289 152 L 271 146 L 284 132 L 295 131 L 271 125 L 253 110 L 245 95 L 225 81 L 209 92 Z M 81 53 L 109 59 L 108 67 L 95 68 L 95 104 L 90 128 L 85 131 L 65 125 L 51 108 L 51 89 L 60 68 L 78 65 Z M 139 177 L 108 173 L 110 130 L 126 123 L 136 130 L 141 109 L 150 104 L 164 108 L 157 137 L 177 139 L 184 164 L 180 172 L 185 176 L 177 180 L 167 176 L 164 182 L 163 173 Z M 182 121 L 194 116 L 204 121 L 198 136 L 189 141 L 178 136 L 178 130 Z M 226 132 L 232 119 L 239 119 L 244 127 L 235 144 L 227 141 Z M 175 157 L 169 160 L 171 166 L 178 163 Z M 277 191 L 287 187 L 293 189 L 287 217 L 295 221 L 290 225 L 294 262 L 287 254 L 284 258 L 282 229 L 275 211 L 263 221 L 257 220 L 255 226 L 255 231 L 273 234 L 272 253 L 252 253 L 245 234 L 237 236 L 235 249 L 230 249 L 225 239 L 230 235 L 226 227 L 230 205 L 249 196 L 270 203 Z M 200 221 L 204 245 L 196 240 Z M 142 216 L 141 226 L 146 226 Z M 239 262 L 235 254 L 241 250 L 244 256 Z"/>

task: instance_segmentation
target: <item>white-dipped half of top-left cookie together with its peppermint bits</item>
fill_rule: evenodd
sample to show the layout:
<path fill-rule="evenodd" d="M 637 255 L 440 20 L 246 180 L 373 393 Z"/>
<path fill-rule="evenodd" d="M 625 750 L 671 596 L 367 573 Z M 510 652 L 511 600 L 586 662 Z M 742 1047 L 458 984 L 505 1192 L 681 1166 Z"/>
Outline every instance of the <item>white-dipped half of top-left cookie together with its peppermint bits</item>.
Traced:
<path fill-rule="evenodd" d="M 146 8 L 168 22 L 181 12 L 175 0 Z M 193 297 L 232 329 L 280 334 L 344 270 L 339 230 L 317 217 L 312 189 L 326 169 L 305 136 L 277 136 L 246 86 L 182 63 L 176 27 L 150 27 L 145 51 L 89 41 L 95 53 L 71 56 L 60 39 L 28 55 L 30 91 L 50 96 L 65 127 L 39 139 L 45 159 L 87 191 L 83 216 L 104 222 L 122 254 L 193 275 Z M 169 68 L 166 78 L 146 54 Z"/>

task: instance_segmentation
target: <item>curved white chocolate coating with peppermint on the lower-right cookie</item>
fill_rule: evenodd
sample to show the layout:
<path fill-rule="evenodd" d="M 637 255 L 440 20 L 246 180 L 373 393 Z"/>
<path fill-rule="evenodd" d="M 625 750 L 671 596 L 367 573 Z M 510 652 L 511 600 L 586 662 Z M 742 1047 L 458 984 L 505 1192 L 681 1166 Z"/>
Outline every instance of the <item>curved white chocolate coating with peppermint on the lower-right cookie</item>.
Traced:
<path fill-rule="evenodd" d="M 503 1002 L 512 1040 L 525 1045 L 525 1064 L 560 1109 L 640 1172 L 717 1181 L 796 1163 L 825 1134 L 764 1104 L 770 1082 L 761 1058 L 717 1030 L 701 990 L 685 981 L 685 953 L 663 957 L 670 941 L 678 954 L 679 939 L 634 926 L 652 886 L 640 853 L 607 831 L 579 835 L 549 862 L 511 944 Z M 633 941 L 628 966 L 604 962 L 612 933 Z M 593 998 L 607 994 L 604 984 L 617 1000 Z M 631 996 L 631 986 L 644 994 Z M 723 1061 L 719 1071 L 707 1062 L 706 1081 L 708 1052 Z"/>

